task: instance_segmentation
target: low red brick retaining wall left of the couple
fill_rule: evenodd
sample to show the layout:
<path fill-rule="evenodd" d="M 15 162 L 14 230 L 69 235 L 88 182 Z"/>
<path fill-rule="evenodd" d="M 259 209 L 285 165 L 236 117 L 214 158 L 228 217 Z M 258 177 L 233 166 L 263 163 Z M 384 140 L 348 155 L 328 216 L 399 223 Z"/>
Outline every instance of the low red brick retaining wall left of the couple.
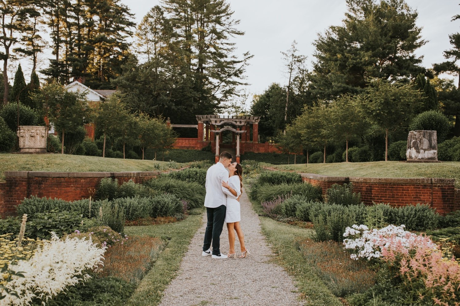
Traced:
<path fill-rule="evenodd" d="M 94 194 L 102 178 L 116 178 L 119 184 L 132 179 L 143 183 L 158 172 L 32 172 L 6 171 L 6 183 L 0 184 L 0 215 L 16 212 L 16 206 L 32 195 L 63 200 L 81 200 Z M 3 192 L 2 192 L 3 190 Z M 3 196 L 2 196 L 3 195 Z"/>

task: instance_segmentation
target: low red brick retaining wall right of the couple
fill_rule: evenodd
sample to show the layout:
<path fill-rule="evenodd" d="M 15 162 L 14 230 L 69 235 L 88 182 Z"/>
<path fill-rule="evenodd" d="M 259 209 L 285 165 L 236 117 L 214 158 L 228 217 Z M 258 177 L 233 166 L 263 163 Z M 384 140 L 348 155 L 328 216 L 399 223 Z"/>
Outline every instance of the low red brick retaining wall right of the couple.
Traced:
<path fill-rule="evenodd" d="M 459 191 L 450 178 L 348 178 L 301 173 L 302 179 L 322 188 L 323 194 L 333 184 L 352 183 L 365 204 L 390 203 L 391 206 L 429 204 L 440 214 L 460 209 Z"/>

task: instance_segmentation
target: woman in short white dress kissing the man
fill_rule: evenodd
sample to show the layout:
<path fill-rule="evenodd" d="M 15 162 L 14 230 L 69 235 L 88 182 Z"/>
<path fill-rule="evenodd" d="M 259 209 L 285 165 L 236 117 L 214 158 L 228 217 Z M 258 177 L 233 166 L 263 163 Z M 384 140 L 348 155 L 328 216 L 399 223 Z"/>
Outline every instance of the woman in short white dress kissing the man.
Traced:
<path fill-rule="evenodd" d="M 227 229 L 229 231 L 229 242 L 230 249 L 228 257 L 236 258 L 235 251 L 235 232 L 238 235 L 238 240 L 240 240 L 241 255 L 240 258 L 245 258 L 249 255 L 249 251 L 244 246 L 244 234 L 240 227 L 240 202 L 239 197 L 242 192 L 242 174 L 243 168 L 240 164 L 234 162 L 231 163 L 228 167 L 230 172 L 230 178 L 228 183 L 222 182 L 222 186 L 229 189 L 230 193 L 233 195 L 227 195 L 227 210 L 225 212 L 225 223 L 227 223 Z"/>

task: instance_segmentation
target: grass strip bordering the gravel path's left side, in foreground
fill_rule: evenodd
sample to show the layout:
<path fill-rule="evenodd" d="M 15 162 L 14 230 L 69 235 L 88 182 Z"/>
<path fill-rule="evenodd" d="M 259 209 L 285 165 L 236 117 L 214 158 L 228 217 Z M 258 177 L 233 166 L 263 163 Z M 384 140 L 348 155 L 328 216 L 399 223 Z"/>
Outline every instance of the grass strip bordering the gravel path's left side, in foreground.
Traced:
<path fill-rule="evenodd" d="M 201 226 L 201 218 L 202 215 L 197 214 L 176 223 L 125 227 L 128 236 L 148 235 L 160 237 L 168 242 L 126 305 L 150 306 L 160 303 L 166 286 L 177 276 L 182 257 L 187 252 L 192 237 Z"/>

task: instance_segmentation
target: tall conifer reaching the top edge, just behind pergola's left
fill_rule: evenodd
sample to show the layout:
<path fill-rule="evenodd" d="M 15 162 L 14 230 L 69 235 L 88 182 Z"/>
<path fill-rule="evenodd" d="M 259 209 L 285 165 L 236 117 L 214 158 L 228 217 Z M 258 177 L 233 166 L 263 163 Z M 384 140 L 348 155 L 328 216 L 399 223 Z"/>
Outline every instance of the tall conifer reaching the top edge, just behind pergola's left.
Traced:
<path fill-rule="evenodd" d="M 244 32 L 236 29 L 238 20 L 225 0 L 164 0 L 163 8 L 177 33 L 175 50 L 193 77 L 194 103 L 200 113 L 214 113 L 223 101 L 237 95 L 249 53 L 237 59 L 230 37 Z"/>

